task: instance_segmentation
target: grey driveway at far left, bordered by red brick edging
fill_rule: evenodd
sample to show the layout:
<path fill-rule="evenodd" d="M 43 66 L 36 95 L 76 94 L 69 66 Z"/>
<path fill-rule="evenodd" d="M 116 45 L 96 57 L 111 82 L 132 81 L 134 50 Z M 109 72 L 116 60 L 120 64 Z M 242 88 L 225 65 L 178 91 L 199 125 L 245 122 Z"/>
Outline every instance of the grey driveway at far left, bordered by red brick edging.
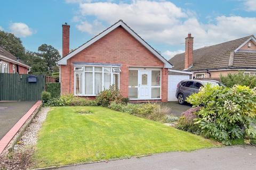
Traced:
<path fill-rule="evenodd" d="M 0 140 L 36 101 L 0 102 Z"/>

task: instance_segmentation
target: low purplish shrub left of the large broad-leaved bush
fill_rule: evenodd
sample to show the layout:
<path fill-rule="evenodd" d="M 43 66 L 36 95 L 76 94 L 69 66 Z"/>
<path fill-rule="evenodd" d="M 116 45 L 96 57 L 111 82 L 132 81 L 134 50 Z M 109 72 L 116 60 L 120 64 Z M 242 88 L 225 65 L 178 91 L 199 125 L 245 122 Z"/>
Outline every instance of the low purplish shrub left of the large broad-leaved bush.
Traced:
<path fill-rule="evenodd" d="M 188 131 L 191 133 L 198 134 L 199 133 L 199 127 L 197 124 L 194 124 L 194 120 L 197 117 L 196 112 L 198 112 L 200 109 L 199 106 L 192 107 L 188 109 L 187 111 L 183 112 L 181 117 L 178 120 L 178 123 L 176 125 L 176 128 Z"/>

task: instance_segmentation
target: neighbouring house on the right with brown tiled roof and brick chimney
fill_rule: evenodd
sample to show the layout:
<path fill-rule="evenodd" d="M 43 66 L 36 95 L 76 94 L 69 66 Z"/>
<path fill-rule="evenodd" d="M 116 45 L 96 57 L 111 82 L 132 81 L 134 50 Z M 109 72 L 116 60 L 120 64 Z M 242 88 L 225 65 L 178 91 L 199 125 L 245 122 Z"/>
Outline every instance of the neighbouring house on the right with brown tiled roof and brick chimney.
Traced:
<path fill-rule="evenodd" d="M 191 33 L 185 41 L 185 53 L 171 58 L 172 69 L 192 72 L 196 79 L 244 71 L 256 75 L 256 39 L 253 35 L 193 50 Z"/>

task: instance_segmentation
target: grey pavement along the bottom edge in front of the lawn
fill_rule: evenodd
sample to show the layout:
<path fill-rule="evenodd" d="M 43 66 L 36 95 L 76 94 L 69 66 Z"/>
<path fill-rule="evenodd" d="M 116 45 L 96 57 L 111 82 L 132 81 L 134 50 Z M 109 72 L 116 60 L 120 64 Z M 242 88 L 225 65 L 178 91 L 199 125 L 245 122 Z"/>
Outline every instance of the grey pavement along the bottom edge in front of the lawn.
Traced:
<path fill-rule="evenodd" d="M 193 152 L 169 152 L 153 156 L 115 160 L 109 163 L 95 163 L 59 168 L 59 170 L 247 170 L 256 169 L 256 147 L 235 146 L 201 149 Z"/>

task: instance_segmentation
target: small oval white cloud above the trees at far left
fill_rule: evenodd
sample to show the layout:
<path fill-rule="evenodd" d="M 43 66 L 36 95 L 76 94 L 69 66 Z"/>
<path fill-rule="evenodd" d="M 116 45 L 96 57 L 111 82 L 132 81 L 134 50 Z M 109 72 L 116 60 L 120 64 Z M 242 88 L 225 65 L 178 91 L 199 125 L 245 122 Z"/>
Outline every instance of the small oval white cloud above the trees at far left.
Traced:
<path fill-rule="evenodd" d="M 15 36 L 18 37 L 27 37 L 35 33 L 35 31 L 29 28 L 27 24 L 22 22 L 11 23 L 9 29 Z"/>

